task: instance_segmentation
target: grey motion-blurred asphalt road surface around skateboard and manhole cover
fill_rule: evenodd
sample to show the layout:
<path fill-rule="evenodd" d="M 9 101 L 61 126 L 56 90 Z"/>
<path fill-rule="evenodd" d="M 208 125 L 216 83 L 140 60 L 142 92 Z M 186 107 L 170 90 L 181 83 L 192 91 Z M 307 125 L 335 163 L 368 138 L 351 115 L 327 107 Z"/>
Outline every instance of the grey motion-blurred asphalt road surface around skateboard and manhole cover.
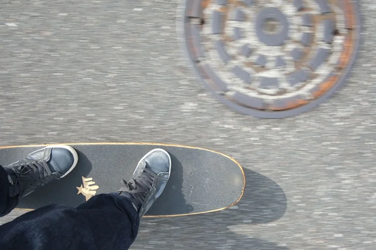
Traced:
<path fill-rule="evenodd" d="M 176 1 L 3 1 L 0 145 L 177 143 L 245 168 L 232 209 L 145 218 L 133 250 L 374 250 L 376 4 L 360 5 L 346 85 L 320 108 L 269 120 L 208 94 L 178 46 Z"/>

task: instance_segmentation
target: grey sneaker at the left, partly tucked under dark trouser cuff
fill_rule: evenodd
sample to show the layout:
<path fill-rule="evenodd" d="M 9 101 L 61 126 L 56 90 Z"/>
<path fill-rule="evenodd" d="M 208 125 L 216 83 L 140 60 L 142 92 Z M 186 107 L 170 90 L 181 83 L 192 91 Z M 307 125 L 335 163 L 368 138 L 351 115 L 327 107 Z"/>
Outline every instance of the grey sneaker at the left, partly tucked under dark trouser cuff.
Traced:
<path fill-rule="evenodd" d="M 9 196 L 22 198 L 69 174 L 77 165 L 77 152 L 66 145 L 48 146 L 5 168 L 11 183 Z"/>

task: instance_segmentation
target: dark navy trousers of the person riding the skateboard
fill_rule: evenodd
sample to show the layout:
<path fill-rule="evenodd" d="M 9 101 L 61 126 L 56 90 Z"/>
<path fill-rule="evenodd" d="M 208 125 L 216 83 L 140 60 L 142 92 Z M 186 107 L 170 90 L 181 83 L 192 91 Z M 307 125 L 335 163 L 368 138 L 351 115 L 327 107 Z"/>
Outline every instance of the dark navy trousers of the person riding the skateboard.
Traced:
<path fill-rule="evenodd" d="M 0 166 L 0 217 L 18 204 L 8 197 L 9 185 Z M 99 194 L 76 208 L 48 205 L 1 225 L 0 249 L 127 250 L 138 226 L 138 213 L 127 198 Z"/>

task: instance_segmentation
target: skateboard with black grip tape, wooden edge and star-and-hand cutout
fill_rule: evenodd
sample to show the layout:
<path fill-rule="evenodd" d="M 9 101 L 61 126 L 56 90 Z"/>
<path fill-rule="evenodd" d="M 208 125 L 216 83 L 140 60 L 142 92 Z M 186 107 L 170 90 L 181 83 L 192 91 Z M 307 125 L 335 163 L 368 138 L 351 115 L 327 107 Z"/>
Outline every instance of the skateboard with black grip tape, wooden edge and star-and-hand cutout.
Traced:
<path fill-rule="evenodd" d="M 49 146 L 0 147 L 0 165 L 7 166 Z M 78 154 L 75 169 L 64 178 L 38 188 L 19 200 L 16 209 L 34 210 L 49 204 L 76 207 L 101 193 L 117 192 L 129 181 L 139 160 L 161 148 L 171 156 L 169 182 L 144 217 L 174 217 L 215 212 L 243 196 L 243 168 L 231 157 L 213 150 L 156 143 L 68 143 Z"/>

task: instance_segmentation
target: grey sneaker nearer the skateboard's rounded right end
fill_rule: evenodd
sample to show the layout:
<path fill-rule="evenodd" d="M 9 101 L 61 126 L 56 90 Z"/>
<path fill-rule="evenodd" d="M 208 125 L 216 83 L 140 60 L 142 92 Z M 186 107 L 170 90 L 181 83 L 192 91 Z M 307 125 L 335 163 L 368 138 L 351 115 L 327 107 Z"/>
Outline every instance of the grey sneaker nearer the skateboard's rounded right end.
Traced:
<path fill-rule="evenodd" d="M 139 161 L 129 182 L 117 192 L 131 200 L 140 217 L 146 214 L 169 181 L 171 157 L 162 149 L 154 149 Z"/>

